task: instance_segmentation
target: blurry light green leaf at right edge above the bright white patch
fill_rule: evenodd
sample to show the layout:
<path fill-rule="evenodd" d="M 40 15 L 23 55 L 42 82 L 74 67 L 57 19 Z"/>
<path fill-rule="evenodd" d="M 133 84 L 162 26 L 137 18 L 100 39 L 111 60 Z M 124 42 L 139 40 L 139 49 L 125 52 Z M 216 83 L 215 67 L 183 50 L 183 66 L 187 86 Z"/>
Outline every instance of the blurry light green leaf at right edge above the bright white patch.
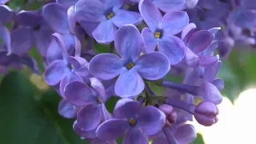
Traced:
<path fill-rule="evenodd" d="M 256 54 L 252 50 L 233 50 L 228 59 L 222 61 L 218 77 L 225 82 L 222 94 L 234 102 L 239 94 L 256 83 Z"/>

